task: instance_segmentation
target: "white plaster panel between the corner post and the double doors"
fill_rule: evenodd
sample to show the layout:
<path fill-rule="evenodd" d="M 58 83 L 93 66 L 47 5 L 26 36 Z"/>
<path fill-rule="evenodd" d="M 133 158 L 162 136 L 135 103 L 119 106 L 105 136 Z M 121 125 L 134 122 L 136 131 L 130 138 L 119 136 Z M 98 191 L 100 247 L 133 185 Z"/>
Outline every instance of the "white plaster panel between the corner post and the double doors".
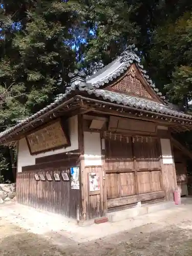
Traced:
<path fill-rule="evenodd" d="M 84 132 L 84 165 L 102 165 L 100 133 Z"/>

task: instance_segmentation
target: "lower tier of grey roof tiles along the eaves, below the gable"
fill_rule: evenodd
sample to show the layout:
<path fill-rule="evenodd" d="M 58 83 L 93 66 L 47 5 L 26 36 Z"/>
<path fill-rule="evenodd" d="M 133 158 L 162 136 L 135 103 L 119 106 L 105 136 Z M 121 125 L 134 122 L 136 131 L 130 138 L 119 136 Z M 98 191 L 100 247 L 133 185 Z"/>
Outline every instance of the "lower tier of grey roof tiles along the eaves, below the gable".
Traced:
<path fill-rule="evenodd" d="M 101 97 L 104 101 L 110 101 L 112 103 L 117 103 L 120 105 L 124 105 L 124 106 L 130 106 L 132 108 L 135 109 L 140 109 L 142 110 L 147 110 L 147 111 L 151 111 L 151 112 L 155 112 L 155 113 L 160 113 L 160 114 L 164 114 L 164 115 L 169 115 L 169 116 L 173 116 L 173 117 L 180 117 L 180 118 L 184 118 L 184 119 L 191 119 L 192 116 L 191 115 L 187 115 L 184 114 L 183 112 L 179 112 L 179 111 L 175 111 L 172 110 L 170 108 L 168 108 L 168 106 L 158 103 L 158 102 L 154 102 L 151 100 L 147 100 L 147 99 L 143 99 L 143 98 L 139 98 L 139 97 L 135 97 L 135 96 L 130 96 L 130 95 L 126 95 L 126 94 L 120 94 L 120 93 L 115 93 L 112 91 L 108 91 L 108 90 L 103 90 L 103 89 L 95 89 L 95 88 L 91 88 L 91 87 L 86 87 L 86 86 L 80 86 L 77 85 L 75 87 L 70 87 L 68 88 L 68 91 L 65 94 L 60 94 L 56 100 L 51 103 L 50 105 L 48 105 L 46 108 L 38 111 L 37 113 L 35 113 L 34 115 L 30 116 L 29 118 L 26 118 L 25 120 L 22 120 L 21 122 L 19 122 L 18 124 L 16 124 L 15 126 L 11 127 L 10 129 L 5 130 L 4 132 L 0 133 L 0 140 L 8 134 L 11 134 L 12 132 L 14 132 L 17 129 L 22 129 L 22 127 L 24 125 L 27 125 L 28 123 L 30 123 L 31 121 L 41 117 L 43 114 L 48 113 L 49 111 L 53 110 L 54 108 L 56 108 L 57 106 L 59 106 L 61 103 L 66 101 L 67 96 L 69 96 L 69 94 L 71 94 L 72 91 L 76 91 L 77 95 L 80 95 L 81 92 L 86 92 L 89 95 L 92 96 L 96 96 L 97 98 Z"/>

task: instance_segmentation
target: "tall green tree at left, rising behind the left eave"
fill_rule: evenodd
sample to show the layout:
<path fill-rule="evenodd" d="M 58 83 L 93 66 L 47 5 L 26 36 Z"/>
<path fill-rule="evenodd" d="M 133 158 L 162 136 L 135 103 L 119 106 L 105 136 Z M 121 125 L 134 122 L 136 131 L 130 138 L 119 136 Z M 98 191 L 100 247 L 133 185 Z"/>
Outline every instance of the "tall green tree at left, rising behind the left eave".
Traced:
<path fill-rule="evenodd" d="M 77 1 L 8 0 L 1 4 L 3 131 L 65 92 L 68 73 L 76 67 L 74 34 L 70 31 L 81 26 L 83 15 Z"/>

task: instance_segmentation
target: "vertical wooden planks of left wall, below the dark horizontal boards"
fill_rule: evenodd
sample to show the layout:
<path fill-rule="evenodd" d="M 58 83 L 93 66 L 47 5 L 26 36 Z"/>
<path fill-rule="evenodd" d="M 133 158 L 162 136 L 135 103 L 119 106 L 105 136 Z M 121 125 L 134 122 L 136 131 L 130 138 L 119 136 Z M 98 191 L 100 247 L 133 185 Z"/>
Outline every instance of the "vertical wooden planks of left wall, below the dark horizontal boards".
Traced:
<path fill-rule="evenodd" d="M 71 189 L 70 181 L 36 181 L 34 174 L 59 173 L 61 171 L 37 171 L 17 174 L 17 203 L 47 210 L 76 219 L 79 205 L 79 190 Z"/>

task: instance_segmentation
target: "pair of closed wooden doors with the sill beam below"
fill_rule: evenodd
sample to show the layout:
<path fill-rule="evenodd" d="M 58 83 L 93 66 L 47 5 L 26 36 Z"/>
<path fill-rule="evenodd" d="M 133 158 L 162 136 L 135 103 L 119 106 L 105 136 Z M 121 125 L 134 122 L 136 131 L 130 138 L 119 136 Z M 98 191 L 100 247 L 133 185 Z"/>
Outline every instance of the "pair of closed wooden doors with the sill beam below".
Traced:
<path fill-rule="evenodd" d="M 105 177 L 108 207 L 164 197 L 158 139 L 105 136 Z"/>

